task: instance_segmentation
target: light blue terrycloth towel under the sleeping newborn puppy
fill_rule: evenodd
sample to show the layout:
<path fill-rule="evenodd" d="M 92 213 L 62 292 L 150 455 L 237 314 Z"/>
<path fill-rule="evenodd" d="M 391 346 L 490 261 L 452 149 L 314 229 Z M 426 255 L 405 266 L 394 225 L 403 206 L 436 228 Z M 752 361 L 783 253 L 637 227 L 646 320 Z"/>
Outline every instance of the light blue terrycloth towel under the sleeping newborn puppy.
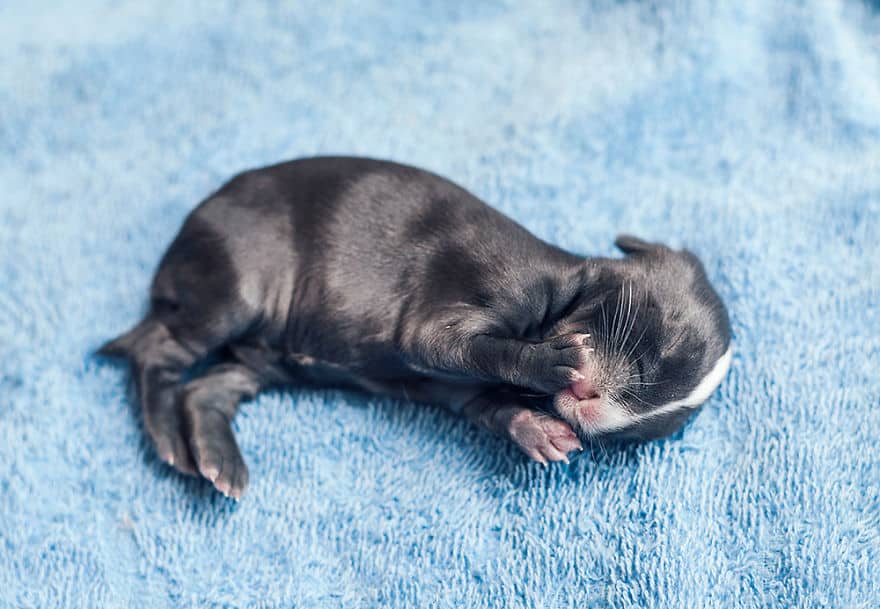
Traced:
<path fill-rule="evenodd" d="M 880 605 L 876 6 L 34 4 L 0 8 L 0 606 Z M 266 394 L 240 504 L 172 473 L 91 352 L 201 197 L 316 153 L 583 253 L 689 246 L 728 380 L 547 469 L 438 409 Z"/>

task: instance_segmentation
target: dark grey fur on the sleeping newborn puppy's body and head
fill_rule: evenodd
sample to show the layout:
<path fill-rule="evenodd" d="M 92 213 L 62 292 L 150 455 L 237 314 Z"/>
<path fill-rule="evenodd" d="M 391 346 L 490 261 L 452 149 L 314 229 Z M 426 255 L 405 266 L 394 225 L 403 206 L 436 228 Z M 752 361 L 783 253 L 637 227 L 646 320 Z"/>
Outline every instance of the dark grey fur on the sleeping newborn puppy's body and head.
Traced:
<path fill-rule="evenodd" d="M 568 253 L 413 167 L 282 163 L 236 176 L 190 214 L 145 319 L 101 352 L 131 363 L 161 458 L 238 497 L 248 474 L 230 421 L 242 399 L 329 384 L 448 403 L 492 428 L 552 408 L 541 396 L 584 361 L 574 333 L 607 333 L 627 285 L 640 313 L 614 349 L 641 379 L 631 408 L 685 395 L 727 348 L 724 307 L 693 255 L 618 244 L 624 259 Z M 219 363 L 184 384 L 212 354 Z M 686 416 L 628 433 L 668 434 Z"/>

